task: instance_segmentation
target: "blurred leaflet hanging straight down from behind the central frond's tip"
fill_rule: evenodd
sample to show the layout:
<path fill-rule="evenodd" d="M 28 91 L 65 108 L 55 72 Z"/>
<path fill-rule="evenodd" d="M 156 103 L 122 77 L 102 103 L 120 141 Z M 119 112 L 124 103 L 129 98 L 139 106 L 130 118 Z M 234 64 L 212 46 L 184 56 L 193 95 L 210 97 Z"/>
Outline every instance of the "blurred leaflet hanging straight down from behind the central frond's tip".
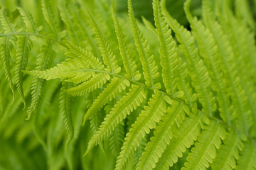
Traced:
<path fill-rule="evenodd" d="M 73 96 L 66 93 L 66 89 L 70 88 L 70 83 L 63 81 L 63 86 L 60 89 L 60 114 L 63 118 L 63 123 L 68 130 L 67 146 L 74 137 L 74 127 L 72 119 L 72 103 Z"/>

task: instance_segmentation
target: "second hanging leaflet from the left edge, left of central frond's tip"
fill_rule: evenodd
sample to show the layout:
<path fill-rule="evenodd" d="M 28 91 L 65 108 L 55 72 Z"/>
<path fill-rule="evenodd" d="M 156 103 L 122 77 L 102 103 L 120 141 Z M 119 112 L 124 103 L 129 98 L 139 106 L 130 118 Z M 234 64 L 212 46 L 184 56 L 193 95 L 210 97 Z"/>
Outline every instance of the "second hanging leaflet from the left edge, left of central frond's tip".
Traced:
<path fill-rule="evenodd" d="M 18 47 L 16 51 L 16 69 L 15 69 L 15 78 L 18 94 L 21 96 L 21 101 L 24 103 L 24 108 L 26 108 L 26 101 L 23 94 L 23 72 L 22 70 L 26 69 L 28 64 L 28 53 L 31 50 L 31 40 L 28 35 L 18 36 Z"/>

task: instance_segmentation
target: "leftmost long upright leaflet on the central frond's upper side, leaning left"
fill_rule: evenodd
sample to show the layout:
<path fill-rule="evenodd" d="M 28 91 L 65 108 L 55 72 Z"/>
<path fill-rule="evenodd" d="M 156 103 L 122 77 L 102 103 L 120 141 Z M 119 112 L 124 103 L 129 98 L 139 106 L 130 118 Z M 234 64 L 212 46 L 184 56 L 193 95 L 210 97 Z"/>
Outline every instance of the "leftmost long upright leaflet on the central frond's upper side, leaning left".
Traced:
<path fill-rule="evenodd" d="M 97 26 L 97 23 L 95 23 L 92 16 L 90 16 L 90 13 L 87 13 L 87 15 L 90 18 L 90 23 L 91 23 L 94 33 L 96 35 L 97 42 L 100 47 L 100 52 L 103 57 L 103 62 L 107 66 L 106 71 L 118 74 L 119 72 L 121 72 L 121 67 L 118 66 L 117 59 L 114 56 L 114 53 L 112 52 L 112 50 L 110 48 L 110 45 L 103 37 L 102 33 L 100 32 L 100 29 Z"/>

